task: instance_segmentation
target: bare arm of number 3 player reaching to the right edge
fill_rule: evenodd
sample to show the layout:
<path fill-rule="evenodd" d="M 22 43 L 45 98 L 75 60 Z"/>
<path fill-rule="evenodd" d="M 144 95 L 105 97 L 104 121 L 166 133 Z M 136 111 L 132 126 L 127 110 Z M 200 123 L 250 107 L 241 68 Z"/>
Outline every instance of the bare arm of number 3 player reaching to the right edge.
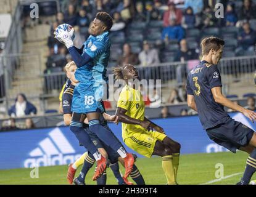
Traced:
<path fill-rule="evenodd" d="M 241 112 L 244 116 L 249 118 L 252 121 L 252 123 L 254 123 L 254 121 L 256 119 L 256 113 L 254 111 L 247 110 L 247 109 L 241 107 L 240 105 L 233 103 L 228 98 L 226 98 L 221 92 L 221 87 L 213 87 L 211 90 L 212 90 L 212 95 L 213 95 L 215 102 L 220 103 L 221 105 L 223 105 L 227 108 L 230 108 L 232 110 Z"/>

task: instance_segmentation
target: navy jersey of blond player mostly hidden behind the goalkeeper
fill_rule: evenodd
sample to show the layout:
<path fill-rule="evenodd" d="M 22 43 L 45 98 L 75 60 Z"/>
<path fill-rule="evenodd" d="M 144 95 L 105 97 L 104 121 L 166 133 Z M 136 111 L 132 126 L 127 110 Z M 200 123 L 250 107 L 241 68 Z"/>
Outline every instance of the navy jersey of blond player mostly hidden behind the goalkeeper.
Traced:
<path fill-rule="evenodd" d="M 70 86 L 65 90 L 65 92 L 62 95 L 62 108 L 63 113 L 65 114 L 72 114 L 72 99 L 73 99 L 73 92 L 74 92 L 75 86 L 70 84 Z M 102 107 L 104 108 L 104 103 L 101 103 Z M 105 108 L 104 108 L 105 112 Z M 105 121 L 103 115 L 99 116 L 99 122 L 101 125 L 107 125 L 107 121 Z"/>

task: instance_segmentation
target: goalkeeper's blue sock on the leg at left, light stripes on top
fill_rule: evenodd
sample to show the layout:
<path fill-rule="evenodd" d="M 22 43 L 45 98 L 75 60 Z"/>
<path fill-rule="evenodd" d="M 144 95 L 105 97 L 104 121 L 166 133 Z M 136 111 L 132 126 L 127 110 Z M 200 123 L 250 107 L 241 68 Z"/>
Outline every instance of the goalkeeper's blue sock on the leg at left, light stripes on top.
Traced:
<path fill-rule="evenodd" d="M 86 133 L 85 129 L 83 129 L 83 123 L 71 121 L 70 130 L 73 132 L 73 134 L 75 134 L 79 142 L 85 148 L 87 148 L 89 152 L 91 152 L 92 154 L 97 152 L 97 148 L 95 147 L 93 142 L 91 142 L 91 138 L 89 137 L 88 133 Z"/>

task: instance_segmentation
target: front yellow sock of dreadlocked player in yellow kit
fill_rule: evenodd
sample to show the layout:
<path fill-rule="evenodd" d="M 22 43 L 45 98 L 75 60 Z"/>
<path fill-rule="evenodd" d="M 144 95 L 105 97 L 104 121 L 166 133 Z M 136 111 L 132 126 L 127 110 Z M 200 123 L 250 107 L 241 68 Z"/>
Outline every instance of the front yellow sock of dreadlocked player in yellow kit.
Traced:
<path fill-rule="evenodd" d="M 162 157 L 162 167 L 163 167 L 163 172 L 165 172 L 165 176 L 167 178 L 167 184 L 176 185 L 172 155 Z"/>

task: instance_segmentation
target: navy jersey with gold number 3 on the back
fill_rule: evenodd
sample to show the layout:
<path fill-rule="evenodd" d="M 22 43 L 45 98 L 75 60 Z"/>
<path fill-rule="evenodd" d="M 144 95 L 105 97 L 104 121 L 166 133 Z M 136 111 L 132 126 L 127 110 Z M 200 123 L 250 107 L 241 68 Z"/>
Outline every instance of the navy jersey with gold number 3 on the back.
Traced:
<path fill-rule="evenodd" d="M 217 65 L 202 61 L 188 74 L 187 93 L 195 97 L 199 119 L 205 130 L 226 123 L 230 118 L 223 105 L 215 102 L 212 95 L 211 89 L 221 86 Z"/>

